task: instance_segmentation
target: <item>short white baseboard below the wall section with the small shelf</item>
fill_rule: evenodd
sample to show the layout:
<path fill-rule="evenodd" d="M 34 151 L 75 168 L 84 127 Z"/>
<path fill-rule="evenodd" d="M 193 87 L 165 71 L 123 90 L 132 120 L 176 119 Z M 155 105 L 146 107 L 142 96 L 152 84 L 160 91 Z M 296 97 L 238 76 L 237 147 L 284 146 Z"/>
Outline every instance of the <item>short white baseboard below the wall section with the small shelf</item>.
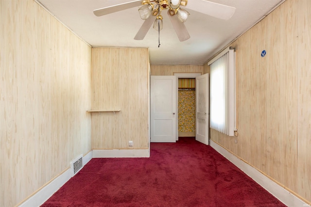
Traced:
<path fill-rule="evenodd" d="M 93 158 L 149 158 L 149 149 L 93 149 Z"/>

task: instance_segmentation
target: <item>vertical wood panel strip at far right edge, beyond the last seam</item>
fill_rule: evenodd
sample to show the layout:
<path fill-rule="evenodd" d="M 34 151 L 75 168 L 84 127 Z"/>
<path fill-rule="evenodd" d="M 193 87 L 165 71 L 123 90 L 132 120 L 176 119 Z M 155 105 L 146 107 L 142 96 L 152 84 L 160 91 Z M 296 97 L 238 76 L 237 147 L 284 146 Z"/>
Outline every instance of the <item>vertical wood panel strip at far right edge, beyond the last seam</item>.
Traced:
<path fill-rule="evenodd" d="M 298 193 L 311 203 L 311 1 L 298 8 Z"/>

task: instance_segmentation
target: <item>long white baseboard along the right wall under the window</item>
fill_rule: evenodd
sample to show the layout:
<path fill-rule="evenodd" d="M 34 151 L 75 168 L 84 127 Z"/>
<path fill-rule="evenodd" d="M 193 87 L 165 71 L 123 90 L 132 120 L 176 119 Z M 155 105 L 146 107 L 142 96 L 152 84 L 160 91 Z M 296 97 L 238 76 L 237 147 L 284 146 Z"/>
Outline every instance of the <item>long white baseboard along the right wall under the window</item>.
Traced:
<path fill-rule="evenodd" d="M 286 189 L 284 189 L 283 187 L 272 181 L 269 177 L 263 175 L 259 170 L 247 164 L 242 159 L 239 159 L 238 157 L 236 157 L 231 152 L 227 151 L 219 144 L 210 140 L 210 146 L 214 148 L 217 152 L 219 152 L 221 155 L 223 155 L 230 162 L 232 162 L 235 166 L 240 168 L 246 175 L 250 176 L 260 186 L 262 186 L 265 190 L 269 191 L 272 195 L 274 195 L 286 206 L 288 207 L 309 206 L 304 201 L 297 198 L 294 194 L 287 191 Z"/>

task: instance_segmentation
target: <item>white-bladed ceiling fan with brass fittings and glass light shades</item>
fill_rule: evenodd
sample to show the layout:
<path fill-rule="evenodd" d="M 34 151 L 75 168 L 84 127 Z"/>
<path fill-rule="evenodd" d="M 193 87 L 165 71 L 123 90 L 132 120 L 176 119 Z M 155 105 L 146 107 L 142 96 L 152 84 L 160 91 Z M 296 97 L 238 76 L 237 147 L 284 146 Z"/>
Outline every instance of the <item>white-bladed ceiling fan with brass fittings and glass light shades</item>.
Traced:
<path fill-rule="evenodd" d="M 234 7 L 207 0 L 132 0 L 121 4 L 96 9 L 94 10 L 94 15 L 104 16 L 140 5 L 142 6 L 138 9 L 138 12 L 140 14 L 140 18 L 144 19 L 145 21 L 134 37 L 135 40 L 144 39 L 152 25 L 153 28 L 157 31 L 162 29 L 163 17 L 161 16 L 161 12 L 165 9 L 168 10 L 167 13 L 169 19 L 173 24 L 173 28 L 180 42 L 190 38 L 189 32 L 184 25 L 184 22 L 187 20 L 188 15 L 190 14 L 182 7 L 187 7 L 187 9 L 224 20 L 230 19 L 235 12 Z"/>

